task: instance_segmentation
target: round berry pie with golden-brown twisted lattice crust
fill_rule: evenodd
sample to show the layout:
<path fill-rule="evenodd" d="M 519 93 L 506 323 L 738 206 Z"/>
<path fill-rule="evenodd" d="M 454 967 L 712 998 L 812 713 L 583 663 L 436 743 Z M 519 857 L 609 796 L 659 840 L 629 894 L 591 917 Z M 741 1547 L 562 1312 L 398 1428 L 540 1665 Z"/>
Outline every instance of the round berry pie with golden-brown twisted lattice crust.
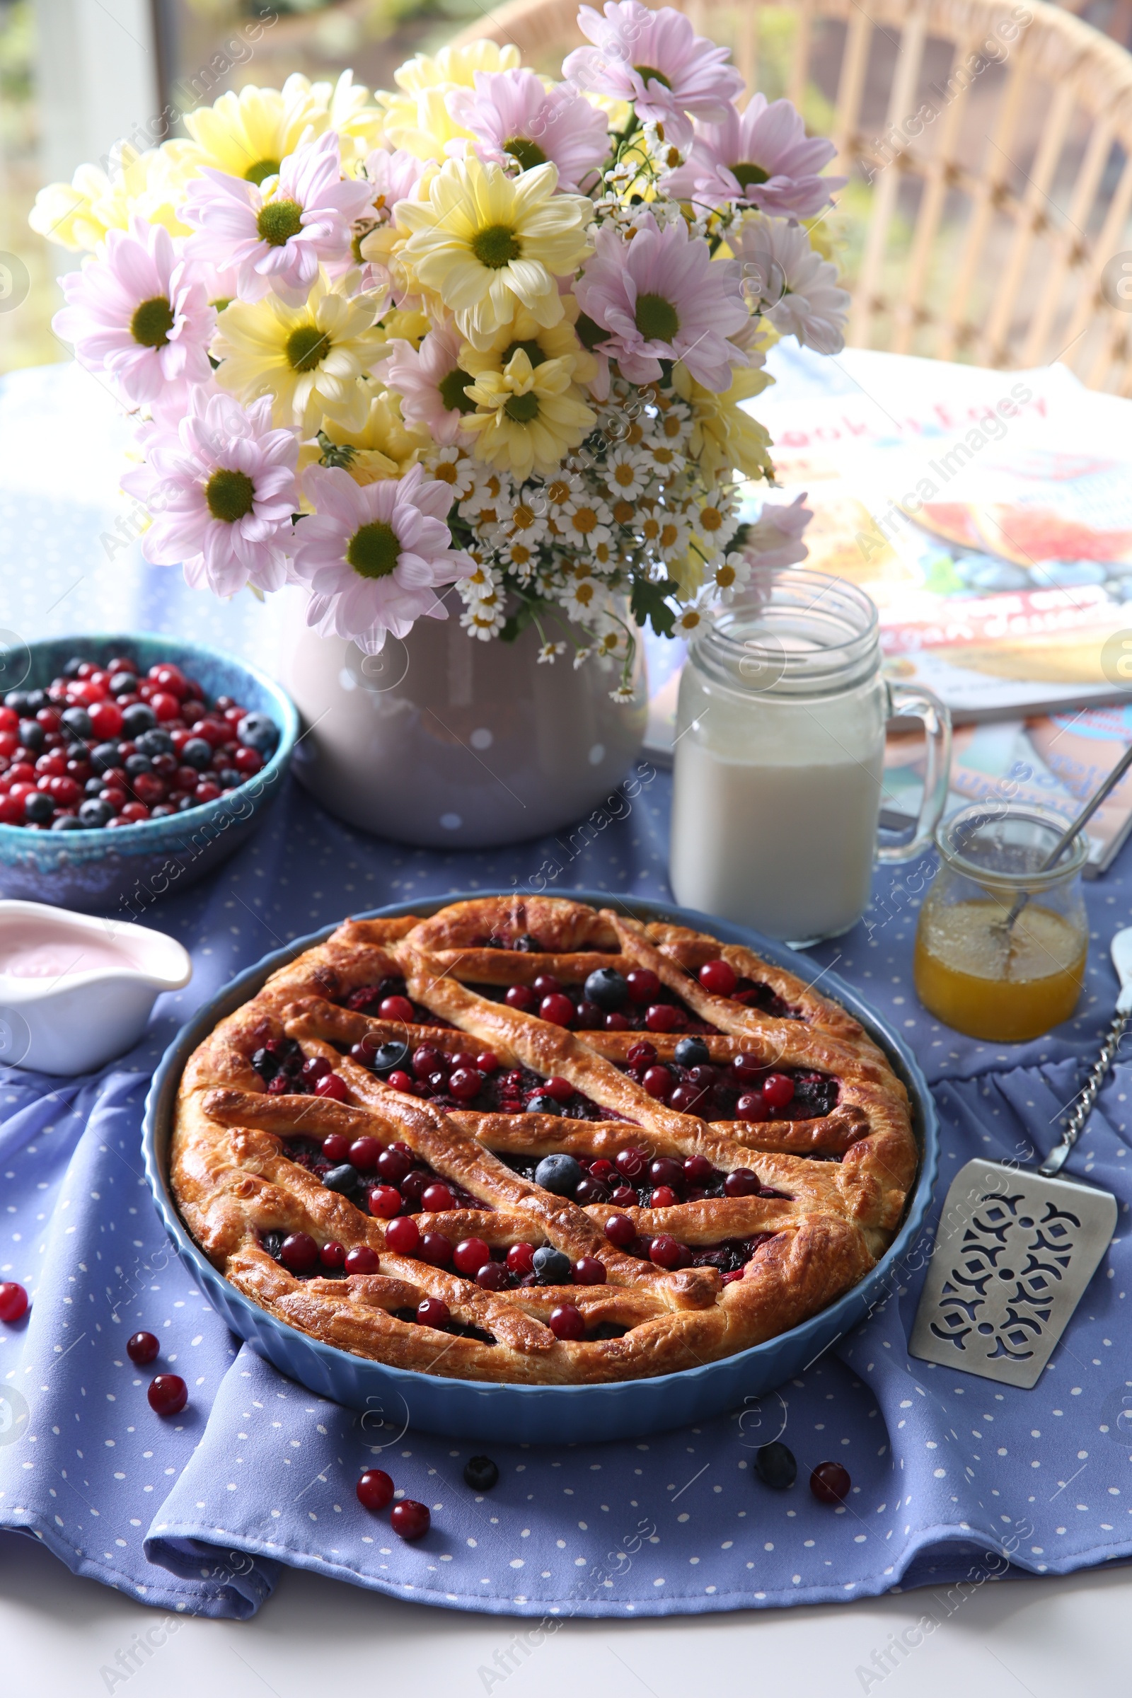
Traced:
<path fill-rule="evenodd" d="M 348 920 L 193 1053 L 171 1150 L 214 1265 L 402 1369 L 597 1384 L 796 1326 L 891 1243 L 908 1097 L 750 949 L 557 897 Z"/>

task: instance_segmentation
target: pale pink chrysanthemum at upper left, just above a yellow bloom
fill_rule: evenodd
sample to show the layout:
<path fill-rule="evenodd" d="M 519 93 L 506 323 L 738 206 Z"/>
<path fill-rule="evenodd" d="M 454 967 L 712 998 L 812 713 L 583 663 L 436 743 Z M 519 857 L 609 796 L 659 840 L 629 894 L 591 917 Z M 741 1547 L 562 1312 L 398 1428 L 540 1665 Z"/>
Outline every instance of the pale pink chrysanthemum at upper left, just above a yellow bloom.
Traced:
<path fill-rule="evenodd" d="M 297 307 L 319 261 L 350 258 L 353 221 L 368 204 L 370 185 L 343 178 L 338 134 L 328 131 L 283 160 L 270 199 L 256 183 L 212 168 L 193 178 L 182 216 L 199 234 L 185 253 L 234 270 L 241 301 L 273 290 Z"/>

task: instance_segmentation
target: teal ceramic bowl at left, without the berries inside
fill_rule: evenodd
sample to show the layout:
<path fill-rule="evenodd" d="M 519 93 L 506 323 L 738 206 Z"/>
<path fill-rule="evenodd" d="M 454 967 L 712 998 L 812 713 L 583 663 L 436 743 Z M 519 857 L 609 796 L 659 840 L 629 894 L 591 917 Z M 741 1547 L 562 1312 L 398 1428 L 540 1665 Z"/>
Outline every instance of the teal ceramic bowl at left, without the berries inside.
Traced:
<path fill-rule="evenodd" d="M 3 657 L 3 689 L 46 689 L 73 654 L 92 661 L 129 654 L 143 672 L 156 661 L 173 661 L 204 686 L 209 701 L 233 696 L 256 713 L 268 713 L 280 732 L 275 754 L 255 778 L 185 813 L 112 832 L 29 832 L 22 825 L 0 825 L 0 897 L 136 920 L 160 897 L 195 885 L 255 830 L 263 808 L 282 790 L 299 715 L 278 684 L 234 655 L 132 632 L 53 637 L 24 650 L 10 649 Z"/>

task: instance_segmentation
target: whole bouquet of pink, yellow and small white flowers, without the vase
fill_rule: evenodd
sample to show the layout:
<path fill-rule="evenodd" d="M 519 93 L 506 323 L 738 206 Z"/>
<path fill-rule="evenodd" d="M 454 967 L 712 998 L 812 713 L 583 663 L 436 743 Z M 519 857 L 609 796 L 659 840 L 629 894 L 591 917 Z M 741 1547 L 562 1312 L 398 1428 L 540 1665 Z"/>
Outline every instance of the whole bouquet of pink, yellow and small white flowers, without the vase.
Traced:
<path fill-rule="evenodd" d="M 370 654 L 455 584 L 470 637 L 533 623 L 630 700 L 635 627 L 804 559 L 801 504 L 743 504 L 774 475 L 743 402 L 777 336 L 842 348 L 833 148 L 787 100 L 740 112 L 681 12 L 579 24 L 557 83 L 490 41 L 392 93 L 292 76 L 41 194 L 32 226 L 92 250 L 54 328 L 137 419 L 148 560 L 299 582 Z"/>

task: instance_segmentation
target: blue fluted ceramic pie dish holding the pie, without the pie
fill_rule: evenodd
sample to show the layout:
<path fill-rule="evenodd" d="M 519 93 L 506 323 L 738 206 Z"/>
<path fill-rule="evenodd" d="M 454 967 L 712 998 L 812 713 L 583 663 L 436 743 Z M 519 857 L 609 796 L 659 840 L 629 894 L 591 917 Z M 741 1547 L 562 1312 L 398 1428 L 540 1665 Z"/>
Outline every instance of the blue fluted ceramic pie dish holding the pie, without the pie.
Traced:
<path fill-rule="evenodd" d="M 429 897 L 421 902 L 377 908 L 372 914 L 358 915 L 358 919 L 389 919 L 402 914 L 428 915 L 450 902 L 467 902 L 487 895 L 492 891 L 475 890 Z M 562 895 L 579 902 L 592 902 L 596 907 L 609 902 L 608 891 L 570 890 L 562 891 Z M 804 956 L 762 937 L 759 932 L 664 902 L 618 897 L 618 905 L 642 920 L 664 919 L 691 925 L 696 931 L 708 931 L 723 942 L 747 944 L 806 981 L 813 976 L 813 964 Z M 275 1319 L 266 1309 L 260 1309 L 249 1297 L 236 1290 L 212 1267 L 177 1211 L 168 1182 L 173 1112 L 185 1063 L 217 1020 L 255 997 L 270 973 L 287 961 L 294 961 L 304 949 L 322 942 L 334 929 L 328 925 L 309 937 L 299 937 L 287 949 L 266 956 L 197 1012 L 161 1058 L 146 1099 L 143 1126 L 146 1177 L 158 1214 L 165 1221 L 178 1255 L 193 1277 L 200 1280 L 210 1302 L 233 1331 L 282 1374 L 334 1403 L 370 1409 L 399 1426 L 407 1423 L 429 1433 L 446 1433 L 451 1438 L 533 1445 L 633 1438 L 703 1421 L 725 1409 L 742 1408 L 747 1399 L 781 1386 L 782 1380 L 799 1374 L 815 1357 L 828 1350 L 837 1338 L 852 1331 L 869 1309 L 893 1289 L 893 1265 L 901 1260 L 920 1231 L 932 1199 L 939 1165 L 935 1105 L 927 1080 L 905 1041 L 849 985 L 833 973 L 827 973 L 823 975 L 825 993 L 835 997 L 860 1020 L 906 1085 L 911 1124 L 920 1146 L 920 1172 L 908 1195 L 896 1240 L 877 1265 L 828 1309 L 764 1345 L 754 1345 L 750 1350 L 725 1357 L 721 1362 L 684 1369 L 681 1374 L 618 1380 L 608 1386 L 485 1386 L 477 1380 L 440 1379 L 350 1355 Z"/>

